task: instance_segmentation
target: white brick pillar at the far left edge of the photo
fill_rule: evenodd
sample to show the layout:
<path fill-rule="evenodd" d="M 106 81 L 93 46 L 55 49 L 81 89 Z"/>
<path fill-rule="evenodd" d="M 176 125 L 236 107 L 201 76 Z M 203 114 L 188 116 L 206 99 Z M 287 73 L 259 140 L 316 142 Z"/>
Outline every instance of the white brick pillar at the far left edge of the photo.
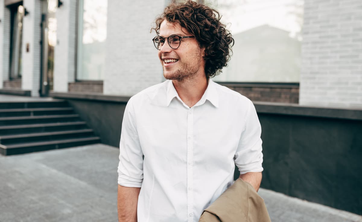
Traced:
<path fill-rule="evenodd" d="M 0 0 L 0 89 L 3 81 L 9 79 L 10 55 L 10 10 L 4 7 L 4 0 Z"/>

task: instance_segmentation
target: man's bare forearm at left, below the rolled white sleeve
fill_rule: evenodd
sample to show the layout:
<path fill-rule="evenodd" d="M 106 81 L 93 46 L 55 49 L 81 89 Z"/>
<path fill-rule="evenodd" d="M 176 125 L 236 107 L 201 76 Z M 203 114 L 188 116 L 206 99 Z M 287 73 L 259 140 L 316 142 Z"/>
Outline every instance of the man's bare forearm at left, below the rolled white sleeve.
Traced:
<path fill-rule="evenodd" d="M 118 221 L 137 222 L 137 202 L 141 188 L 123 187 L 118 184 Z"/>

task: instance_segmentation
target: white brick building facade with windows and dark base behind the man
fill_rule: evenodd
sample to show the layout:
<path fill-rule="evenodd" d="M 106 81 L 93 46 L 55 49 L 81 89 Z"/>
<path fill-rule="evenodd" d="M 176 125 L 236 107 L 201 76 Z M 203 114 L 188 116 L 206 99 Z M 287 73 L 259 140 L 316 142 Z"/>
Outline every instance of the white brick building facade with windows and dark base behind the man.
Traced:
<path fill-rule="evenodd" d="M 117 147 L 130 96 L 164 81 L 150 30 L 172 1 L 0 0 L 0 93 L 65 99 Z M 362 214 L 362 1 L 199 1 L 235 38 L 214 81 L 255 104 L 261 186 Z"/>

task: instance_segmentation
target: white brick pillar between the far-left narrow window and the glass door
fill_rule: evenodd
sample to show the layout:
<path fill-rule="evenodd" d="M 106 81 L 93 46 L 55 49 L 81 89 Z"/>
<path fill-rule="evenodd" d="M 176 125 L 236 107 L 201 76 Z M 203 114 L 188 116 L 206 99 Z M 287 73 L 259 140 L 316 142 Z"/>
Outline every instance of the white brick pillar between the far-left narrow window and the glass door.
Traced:
<path fill-rule="evenodd" d="M 21 88 L 30 90 L 31 96 L 39 96 L 41 0 L 24 0 L 23 5 L 29 14 L 23 18 Z M 28 53 L 25 51 L 27 43 L 29 43 Z"/>

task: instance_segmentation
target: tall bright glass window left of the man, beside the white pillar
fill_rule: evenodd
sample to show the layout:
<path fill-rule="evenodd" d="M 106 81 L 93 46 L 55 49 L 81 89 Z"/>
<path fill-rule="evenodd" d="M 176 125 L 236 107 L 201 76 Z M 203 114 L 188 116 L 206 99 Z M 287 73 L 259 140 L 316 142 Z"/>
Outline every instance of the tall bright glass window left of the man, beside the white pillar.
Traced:
<path fill-rule="evenodd" d="M 103 80 L 107 1 L 79 0 L 77 80 Z"/>

